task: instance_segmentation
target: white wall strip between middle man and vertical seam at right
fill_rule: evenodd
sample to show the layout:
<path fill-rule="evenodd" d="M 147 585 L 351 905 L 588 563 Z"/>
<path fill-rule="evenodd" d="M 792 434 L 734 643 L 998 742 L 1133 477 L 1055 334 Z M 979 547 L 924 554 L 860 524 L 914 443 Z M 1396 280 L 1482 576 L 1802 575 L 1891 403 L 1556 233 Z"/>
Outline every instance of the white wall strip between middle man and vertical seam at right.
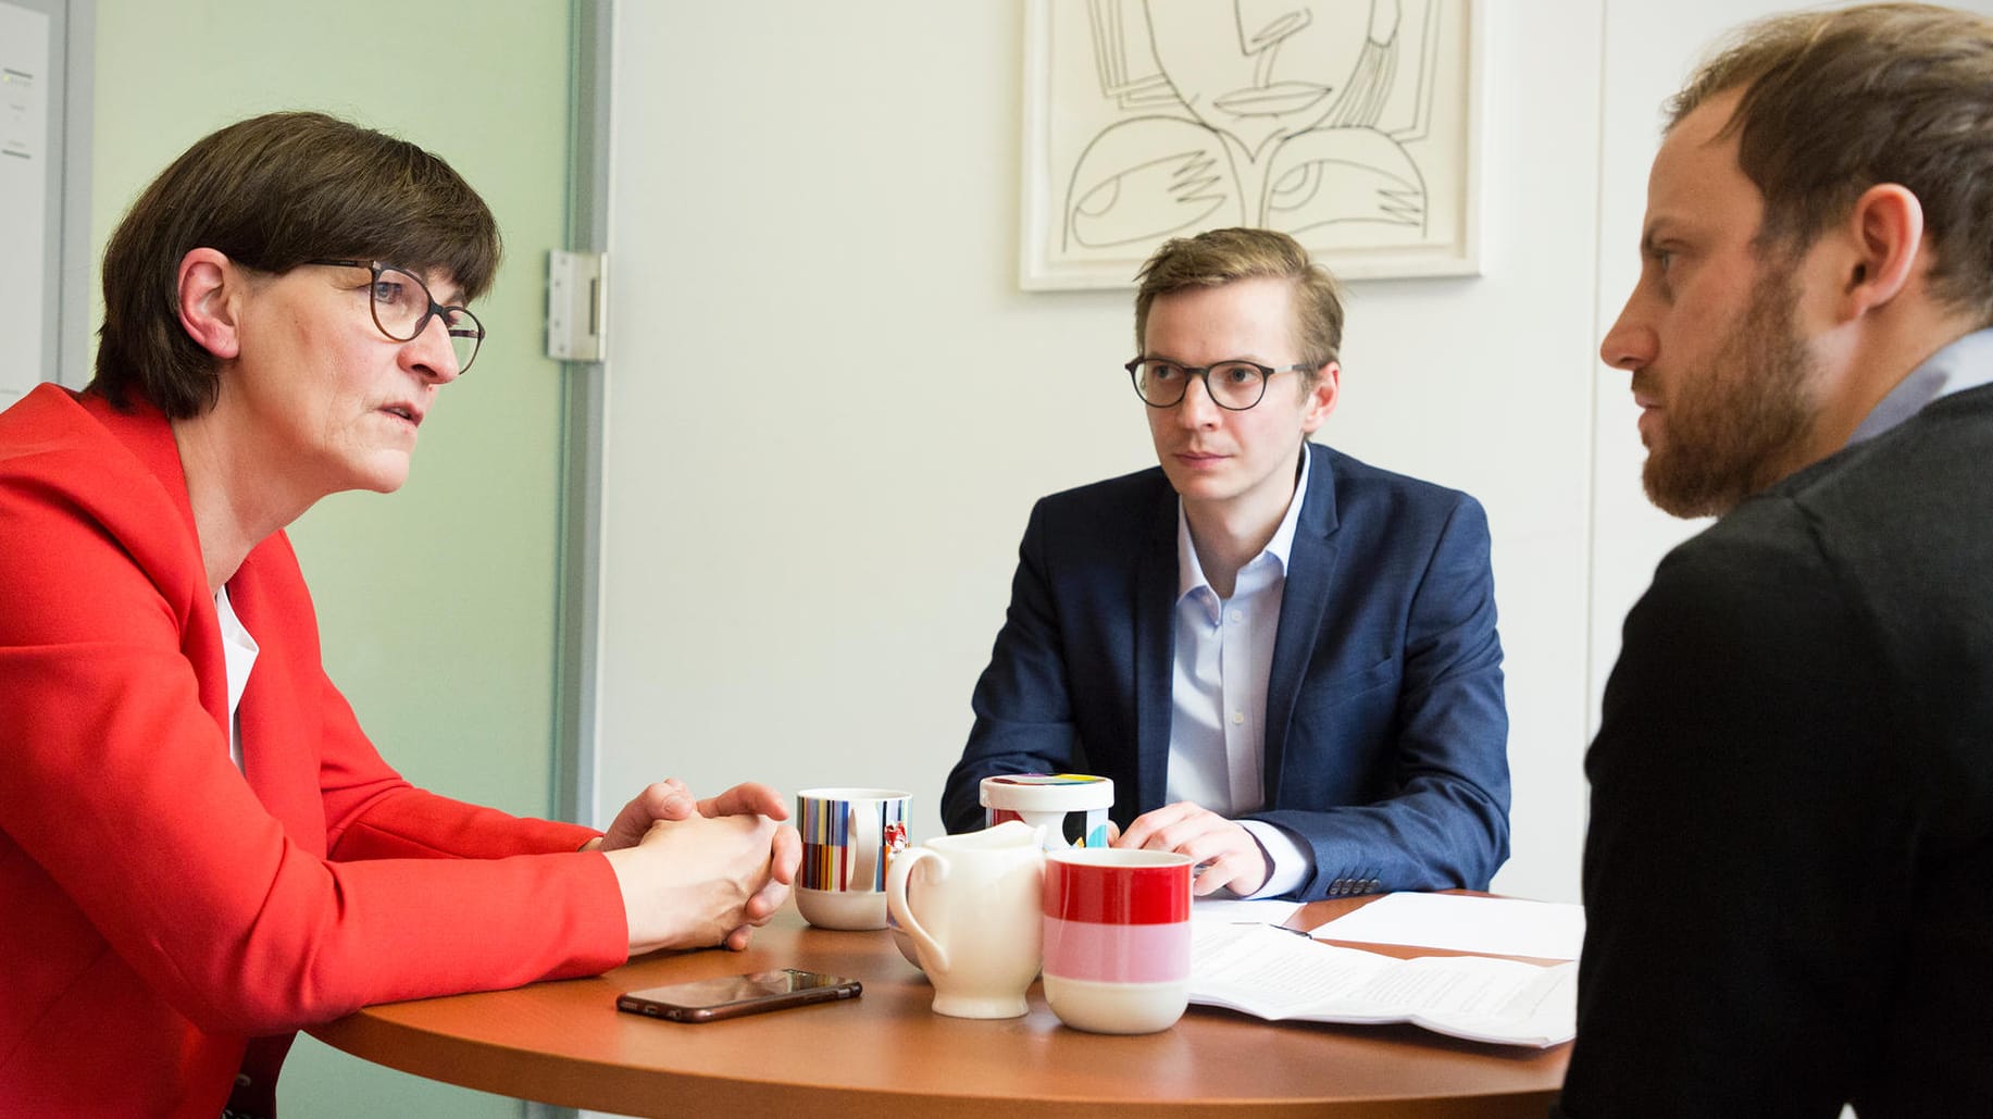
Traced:
<path fill-rule="evenodd" d="M 1483 275 L 1351 285 L 1325 437 L 1487 505 L 1515 780 L 1495 888 L 1576 900 L 1600 16 L 1483 12 Z"/>

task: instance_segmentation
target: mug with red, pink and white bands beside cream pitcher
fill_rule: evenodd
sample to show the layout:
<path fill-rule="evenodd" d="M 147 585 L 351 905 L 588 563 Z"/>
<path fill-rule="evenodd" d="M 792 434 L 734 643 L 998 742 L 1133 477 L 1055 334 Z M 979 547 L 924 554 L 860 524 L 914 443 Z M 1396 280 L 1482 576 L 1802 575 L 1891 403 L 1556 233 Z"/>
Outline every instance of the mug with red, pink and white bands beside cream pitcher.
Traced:
<path fill-rule="evenodd" d="M 1044 1001 L 1074 1029 L 1154 1033 L 1190 1001 L 1190 856 L 1044 854 Z"/>

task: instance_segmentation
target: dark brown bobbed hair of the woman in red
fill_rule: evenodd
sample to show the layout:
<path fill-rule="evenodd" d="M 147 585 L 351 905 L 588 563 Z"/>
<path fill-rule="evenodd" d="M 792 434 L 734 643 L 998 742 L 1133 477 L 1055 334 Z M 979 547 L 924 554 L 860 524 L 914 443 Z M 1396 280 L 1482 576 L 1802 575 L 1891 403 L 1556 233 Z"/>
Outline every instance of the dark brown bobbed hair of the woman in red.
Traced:
<path fill-rule="evenodd" d="M 179 261 L 197 247 L 271 273 L 323 257 L 440 269 L 466 303 L 500 253 L 484 199 L 407 140 L 315 112 L 231 124 L 173 160 L 104 249 L 92 387 L 120 407 L 140 397 L 185 419 L 221 393 L 215 357 L 179 323 Z"/>

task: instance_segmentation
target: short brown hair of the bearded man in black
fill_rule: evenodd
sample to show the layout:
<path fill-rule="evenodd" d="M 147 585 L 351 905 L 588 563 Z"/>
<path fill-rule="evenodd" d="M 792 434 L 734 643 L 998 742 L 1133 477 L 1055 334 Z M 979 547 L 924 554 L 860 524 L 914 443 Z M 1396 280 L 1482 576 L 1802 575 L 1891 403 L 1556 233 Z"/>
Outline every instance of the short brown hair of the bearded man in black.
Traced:
<path fill-rule="evenodd" d="M 1993 323 L 1993 20 L 1865 4 L 1748 24 L 1668 102 L 1744 90 L 1724 136 L 1764 195 L 1760 251 L 1804 251 L 1877 184 L 1923 205 L 1931 293 Z"/>

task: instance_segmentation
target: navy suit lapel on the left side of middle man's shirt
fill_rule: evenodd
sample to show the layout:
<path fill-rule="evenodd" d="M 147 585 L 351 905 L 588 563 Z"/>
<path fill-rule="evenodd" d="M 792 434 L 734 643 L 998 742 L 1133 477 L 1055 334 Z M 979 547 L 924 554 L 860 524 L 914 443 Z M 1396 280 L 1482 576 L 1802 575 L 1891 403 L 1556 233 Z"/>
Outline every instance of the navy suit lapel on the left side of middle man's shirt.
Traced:
<path fill-rule="evenodd" d="M 1176 658 L 1176 491 L 1156 471 L 1148 539 L 1134 580 L 1136 798 L 1160 808 L 1170 778 L 1170 678 Z"/>

